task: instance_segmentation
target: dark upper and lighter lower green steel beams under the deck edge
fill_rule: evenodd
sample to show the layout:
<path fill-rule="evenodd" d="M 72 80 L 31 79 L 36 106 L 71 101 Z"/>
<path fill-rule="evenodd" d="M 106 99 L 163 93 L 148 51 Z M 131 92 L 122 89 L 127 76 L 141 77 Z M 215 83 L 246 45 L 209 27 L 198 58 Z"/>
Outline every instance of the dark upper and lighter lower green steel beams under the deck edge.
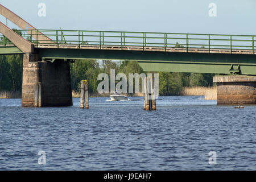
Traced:
<path fill-rule="evenodd" d="M 42 59 L 135 60 L 144 71 L 256 75 L 256 55 L 53 48 L 38 52 Z"/>

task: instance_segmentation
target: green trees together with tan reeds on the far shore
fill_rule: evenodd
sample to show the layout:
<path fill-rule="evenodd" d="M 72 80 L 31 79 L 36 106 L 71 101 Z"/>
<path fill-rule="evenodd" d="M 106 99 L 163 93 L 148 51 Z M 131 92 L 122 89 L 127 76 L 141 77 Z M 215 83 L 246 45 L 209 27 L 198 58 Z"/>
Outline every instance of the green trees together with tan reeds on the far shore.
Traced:
<path fill-rule="evenodd" d="M 177 47 L 180 46 L 177 44 Z M 89 80 L 89 97 L 109 97 L 109 94 L 98 94 L 98 80 L 101 73 L 112 77 L 111 71 L 123 73 L 127 81 L 130 74 L 149 74 L 144 72 L 137 61 L 111 60 L 79 60 L 70 63 L 71 88 L 73 97 L 80 96 L 81 80 Z M 0 98 L 21 98 L 22 93 L 23 57 L 21 55 L 0 55 Z M 208 86 L 214 86 L 213 73 L 178 73 L 157 72 L 159 74 L 159 96 L 205 96 L 208 99 L 216 98 Z M 120 79 L 119 79 L 120 80 Z M 117 82 L 118 79 L 115 78 Z M 140 81 L 140 86 L 142 83 Z M 214 91 L 215 92 L 215 91 Z M 125 94 L 125 96 L 142 96 Z"/>

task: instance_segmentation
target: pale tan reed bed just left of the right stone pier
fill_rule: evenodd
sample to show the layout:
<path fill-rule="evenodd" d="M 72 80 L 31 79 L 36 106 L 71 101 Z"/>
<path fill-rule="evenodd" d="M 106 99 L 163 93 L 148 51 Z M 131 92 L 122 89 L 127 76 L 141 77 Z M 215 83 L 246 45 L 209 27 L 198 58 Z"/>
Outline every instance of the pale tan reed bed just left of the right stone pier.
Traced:
<path fill-rule="evenodd" d="M 217 100 L 217 87 L 192 86 L 184 87 L 181 91 L 182 96 L 204 96 L 205 100 Z"/>

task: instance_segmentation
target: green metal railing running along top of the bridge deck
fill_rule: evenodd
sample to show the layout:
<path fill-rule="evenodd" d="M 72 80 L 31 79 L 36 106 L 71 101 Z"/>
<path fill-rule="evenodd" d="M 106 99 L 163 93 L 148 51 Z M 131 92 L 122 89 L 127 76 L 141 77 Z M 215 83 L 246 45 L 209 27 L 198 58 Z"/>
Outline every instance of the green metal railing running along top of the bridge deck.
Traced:
<path fill-rule="evenodd" d="M 204 48 L 250 50 L 255 53 L 256 35 L 221 35 L 221 34 L 177 34 L 156 32 L 117 32 L 117 31 L 79 31 L 79 30 L 20 30 L 24 38 L 36 46 L 76 44 L 82 46 L 119 46 L 168 48 Z M 51 40 L 40 40 L 42 32 Z M 33 38 L 34 37 L 34 38 Z M 2 41 L 0 44 L 7 44 Z"/>

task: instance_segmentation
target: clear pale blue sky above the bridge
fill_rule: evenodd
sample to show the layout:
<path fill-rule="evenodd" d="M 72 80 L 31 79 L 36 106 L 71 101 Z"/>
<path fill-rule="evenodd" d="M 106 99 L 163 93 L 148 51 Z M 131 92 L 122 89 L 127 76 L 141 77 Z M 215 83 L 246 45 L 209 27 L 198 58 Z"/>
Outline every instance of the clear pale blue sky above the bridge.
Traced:
<path fill-rule="evenodd" d="M 38 4 L 46 4 L 46 17 Z M 209 3 L 217 17 L 210 17 Z M 3 0 L 38 29 L 256 35 L 255 0 Z M 0 18 L 5 22 L 4 18 Z M 12 26 L 10 24 L 10 26 Z"/>

